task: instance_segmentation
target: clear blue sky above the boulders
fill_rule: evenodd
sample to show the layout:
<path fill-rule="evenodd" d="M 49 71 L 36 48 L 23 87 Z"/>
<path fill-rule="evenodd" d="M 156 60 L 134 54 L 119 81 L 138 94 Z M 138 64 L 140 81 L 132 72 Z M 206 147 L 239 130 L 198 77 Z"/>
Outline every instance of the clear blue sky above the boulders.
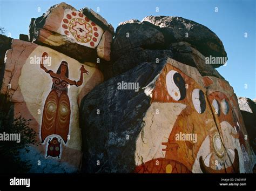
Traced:
<path fill-rule="evenodd" d="M 50 6 L 63 1 L 53 0 L 0 0 L 0 26 L 6 35 L 18 38 L 28 34 L 32 17 L 39 17 Z M 116 29 L 120 22 L 149 15 L 180 16 L 203 24 L 222 40 L 228 56 L 226 66 L 218 71 L 233 86 L 237 96 L 256 98 L 256 1 L 254 0 L 73 0 L 64 1 L 76 9 L 85 6 L 97 10 Z M 156 12 L 156 7 L 159 12 Z M 218 7 L 218 12 L 215 12 Z M 38 8 L 41 12 L 38 12 Z M 244 34 L 247 32 L 247 38 Z M 245 88 L 247 85 L 247 88 Z"/>

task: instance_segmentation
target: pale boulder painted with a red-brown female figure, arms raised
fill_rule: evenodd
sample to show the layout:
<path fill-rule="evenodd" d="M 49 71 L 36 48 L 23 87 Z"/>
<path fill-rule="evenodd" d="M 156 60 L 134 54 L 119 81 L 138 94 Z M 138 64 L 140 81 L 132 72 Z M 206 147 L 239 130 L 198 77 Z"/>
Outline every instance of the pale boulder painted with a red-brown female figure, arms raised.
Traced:
<path fill-rule="evenodd" d="M 49 47 L 17 39 L 6 52 L 4 69 L 1 93 L 14 104 L 14 118 L 29 120 L 41 143 L 21 153 L 22 160 L 30 160 L 30 172 L 77 172 L 82 159 L 78 108 L 103 81 L 102 73 Z"/>

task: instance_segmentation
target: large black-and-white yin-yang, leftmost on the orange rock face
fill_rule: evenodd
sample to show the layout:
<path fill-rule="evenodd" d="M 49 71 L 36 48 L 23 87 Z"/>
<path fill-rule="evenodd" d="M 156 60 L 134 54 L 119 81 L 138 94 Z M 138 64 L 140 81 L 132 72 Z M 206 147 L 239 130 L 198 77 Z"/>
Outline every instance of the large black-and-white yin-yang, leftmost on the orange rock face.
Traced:
<path fill-rule="evenodd" d="M 183 77 L 175 70 L 166 75 L 166 87 L 169 95 L 176 100 L 183 100 L 186 97 L 186 87 Z"/>

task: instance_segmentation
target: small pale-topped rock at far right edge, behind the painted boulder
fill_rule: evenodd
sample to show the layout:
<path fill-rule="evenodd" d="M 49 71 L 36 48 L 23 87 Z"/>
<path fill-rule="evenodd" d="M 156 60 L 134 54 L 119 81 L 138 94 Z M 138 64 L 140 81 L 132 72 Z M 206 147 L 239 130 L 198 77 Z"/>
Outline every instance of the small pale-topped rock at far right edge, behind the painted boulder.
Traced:
<path fill-rule="evenodd" d="M 256 103 L 249 98 L 239 97 L 238 104 L 248 132 L 250 145 L 256 153 Z"/>

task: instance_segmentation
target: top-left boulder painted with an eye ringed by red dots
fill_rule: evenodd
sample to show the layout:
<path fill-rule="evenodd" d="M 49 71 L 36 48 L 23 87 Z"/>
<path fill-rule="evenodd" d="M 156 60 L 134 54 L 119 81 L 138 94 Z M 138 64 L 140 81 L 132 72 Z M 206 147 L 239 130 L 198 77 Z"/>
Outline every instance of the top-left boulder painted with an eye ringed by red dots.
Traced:
<path fill-rule="evenodd" d="M 30 42 L 49 46 L 81 63 L 110 60 L 113 27 L 91 9 L 77 11 L 66 3 L 52 6 L 32 18 Z"/>

